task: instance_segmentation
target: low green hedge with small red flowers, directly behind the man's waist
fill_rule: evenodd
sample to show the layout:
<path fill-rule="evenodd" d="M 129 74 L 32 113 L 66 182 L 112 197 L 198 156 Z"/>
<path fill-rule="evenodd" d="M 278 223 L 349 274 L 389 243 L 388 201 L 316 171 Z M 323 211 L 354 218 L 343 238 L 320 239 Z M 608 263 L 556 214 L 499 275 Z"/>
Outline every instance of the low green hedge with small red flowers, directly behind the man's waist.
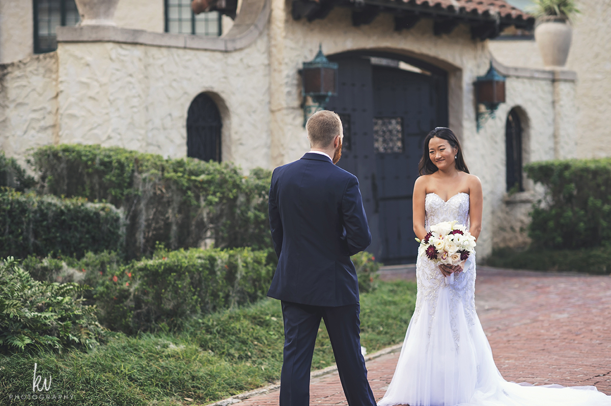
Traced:
<path fill-rule="evenodd" d="M 368 252 L 352 257 L 362 293 L 375 290 L 380 264 Z M 273 250 L 158 247 L 150 259 L 123 262 L 115 252 L 80 258 L 27 257 L 21 268 L 36 280 L 76 282 L 96 304 L 105 327 L 134 333 L 181 329 L 201 315 L 252 303 L 265 296 L 277 265 Z"/>

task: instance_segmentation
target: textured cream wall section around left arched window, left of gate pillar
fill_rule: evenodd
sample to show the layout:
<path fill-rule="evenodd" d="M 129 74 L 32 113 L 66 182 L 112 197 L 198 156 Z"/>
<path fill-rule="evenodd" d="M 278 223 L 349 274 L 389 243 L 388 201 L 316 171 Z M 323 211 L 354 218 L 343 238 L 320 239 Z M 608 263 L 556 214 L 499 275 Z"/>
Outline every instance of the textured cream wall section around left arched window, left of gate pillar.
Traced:
<path fill-rule="evenodd" d="M 267 36 L 236 52 L 118 43 L 60 43 L 59 141 L 186 156 L 197 94 L 223 115 L 223 160 L 269 167 Z M 254 80 L 256 78 L 256 80 Z"/>

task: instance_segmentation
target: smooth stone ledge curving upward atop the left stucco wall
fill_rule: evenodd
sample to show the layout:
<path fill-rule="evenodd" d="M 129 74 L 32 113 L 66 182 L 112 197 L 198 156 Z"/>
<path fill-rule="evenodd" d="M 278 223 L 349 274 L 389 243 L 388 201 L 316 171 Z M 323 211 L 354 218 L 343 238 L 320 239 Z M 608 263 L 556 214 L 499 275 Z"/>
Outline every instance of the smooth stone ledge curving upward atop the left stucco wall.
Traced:
<path fill-rule="evenodd" d="M 251 45 L 269 20 L 271 0 L 246 0 L 223 37 L 150 32 L 116 26 L 57 27 L 57 42 L 116 42 L 170 48 L 232 52 Z"/>

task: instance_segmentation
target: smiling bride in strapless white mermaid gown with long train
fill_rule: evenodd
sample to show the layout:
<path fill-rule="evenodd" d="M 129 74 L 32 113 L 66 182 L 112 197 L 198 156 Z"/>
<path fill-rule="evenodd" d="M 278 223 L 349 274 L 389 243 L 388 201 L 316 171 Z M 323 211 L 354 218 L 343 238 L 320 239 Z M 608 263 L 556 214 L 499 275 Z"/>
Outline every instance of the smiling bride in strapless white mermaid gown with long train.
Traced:
<path fill-rule="evenodd" d="M 477 238 L 483 194 L 469 174 L 452 130 L 437 127 L 425 138 L 414 185 L 414 232 L 456 220 Z M 609 406 L 595 386 L 564 388 L 507 382 L 494 364 L 475 312 L 475 255 L 462 266 L 434 265 L 420 246 L 414 315 L 397 369 L 378 406 Z M 449 277 L 454 274 L 453 277 Z"/>

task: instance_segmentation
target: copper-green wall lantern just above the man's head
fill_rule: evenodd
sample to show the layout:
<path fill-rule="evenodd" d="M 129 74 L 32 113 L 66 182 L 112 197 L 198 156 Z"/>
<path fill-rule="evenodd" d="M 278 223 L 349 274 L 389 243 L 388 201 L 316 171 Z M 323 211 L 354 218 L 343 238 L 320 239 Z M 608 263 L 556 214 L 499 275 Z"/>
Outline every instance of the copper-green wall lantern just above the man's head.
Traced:
<path fill-rule="evenodd" d="M 323 54 L 323 46 L 318 46 L 318 54 L 310 62 L 304 62 L 301 73 L 304 109 L 304 127 L 307 119 L 314 113 L 324 110 L 331 96 L 337 96 L 338 65 Z M 309 101 L 308 101 L 309 98 Z"/>

